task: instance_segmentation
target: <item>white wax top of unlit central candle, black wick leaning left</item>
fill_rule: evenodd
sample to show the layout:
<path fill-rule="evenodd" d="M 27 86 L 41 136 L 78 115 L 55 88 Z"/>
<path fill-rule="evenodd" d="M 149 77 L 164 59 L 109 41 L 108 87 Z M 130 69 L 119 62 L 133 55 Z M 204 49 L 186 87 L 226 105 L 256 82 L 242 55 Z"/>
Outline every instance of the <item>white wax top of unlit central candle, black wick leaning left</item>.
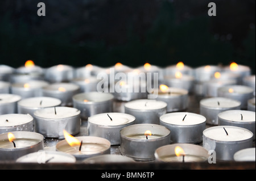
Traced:
<path fill-rule="evenodd" d="M 112 118 L 112 120 L 110 120 L 108 115 Z M 88 118 L 90 123 L 106 126 L 124 125 L 131 123 L 134 120 L 134 116 L 118 112 L 100 113 Z"/>

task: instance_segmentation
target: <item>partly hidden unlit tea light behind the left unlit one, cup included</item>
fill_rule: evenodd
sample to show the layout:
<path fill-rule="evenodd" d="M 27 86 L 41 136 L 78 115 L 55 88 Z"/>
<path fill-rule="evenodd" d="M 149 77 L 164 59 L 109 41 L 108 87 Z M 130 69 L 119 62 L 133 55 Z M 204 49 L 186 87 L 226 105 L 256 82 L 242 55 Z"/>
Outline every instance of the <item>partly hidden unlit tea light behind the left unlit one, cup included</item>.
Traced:
<path fill-rule="evenodd" d="M 31 116 L 34 116 L 34 111 L 47 108 L 47 107 L 56 107 L 60 106 L 60 99 L 51 98 L 51 97 L 34 97 L 22 99 L 18 102 L 18 113 L 28 113 Z"/>

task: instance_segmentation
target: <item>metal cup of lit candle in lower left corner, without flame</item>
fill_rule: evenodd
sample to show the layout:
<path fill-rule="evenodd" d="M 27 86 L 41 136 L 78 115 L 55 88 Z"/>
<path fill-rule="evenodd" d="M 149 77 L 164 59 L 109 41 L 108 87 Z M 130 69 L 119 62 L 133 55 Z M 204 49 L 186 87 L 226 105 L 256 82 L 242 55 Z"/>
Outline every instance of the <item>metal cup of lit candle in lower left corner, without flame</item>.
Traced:
<path fill-rule="evenodd" d="M 8 133 L 0 134 L 0 160 L 13 160 L 28 153 L 44 148 L 44 137 L 35 132 L 16 131 L 11 132 L 15 136 L 15 146 L 8 139 Z"/>

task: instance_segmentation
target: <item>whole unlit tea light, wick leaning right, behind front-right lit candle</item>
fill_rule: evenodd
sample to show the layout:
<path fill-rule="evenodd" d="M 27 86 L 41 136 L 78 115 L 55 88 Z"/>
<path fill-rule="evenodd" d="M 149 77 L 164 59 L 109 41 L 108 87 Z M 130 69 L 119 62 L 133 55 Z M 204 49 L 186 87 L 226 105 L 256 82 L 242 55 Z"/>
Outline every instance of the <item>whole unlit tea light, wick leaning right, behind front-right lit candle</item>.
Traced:
<path fill-rule="evenodd" d="M 160 116 L 160 125 L 170 129 L 171 144 L 196 144 L 203 140 L 206 118 L 191 112 L 172 112 Z"/>

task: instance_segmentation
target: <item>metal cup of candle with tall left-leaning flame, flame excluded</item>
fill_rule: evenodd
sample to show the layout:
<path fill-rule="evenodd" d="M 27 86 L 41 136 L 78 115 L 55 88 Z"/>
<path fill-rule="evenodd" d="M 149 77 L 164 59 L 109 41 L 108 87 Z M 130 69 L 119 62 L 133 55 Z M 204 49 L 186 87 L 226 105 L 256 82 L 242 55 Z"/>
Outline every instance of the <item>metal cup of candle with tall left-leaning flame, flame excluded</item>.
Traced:
<path fill-rule="evenodd" d="M 56 144 L 56 150 L 73 155 L 77 161 L 96 155 L 110 154 L 111 144 L 105 138 L 94 136 L 79 136 L 75 138 L 79 142 L 82 141 L 81 151 L 79 151 L 80 145 L 70 146 L 66 140 L 59 141 Z"/>

